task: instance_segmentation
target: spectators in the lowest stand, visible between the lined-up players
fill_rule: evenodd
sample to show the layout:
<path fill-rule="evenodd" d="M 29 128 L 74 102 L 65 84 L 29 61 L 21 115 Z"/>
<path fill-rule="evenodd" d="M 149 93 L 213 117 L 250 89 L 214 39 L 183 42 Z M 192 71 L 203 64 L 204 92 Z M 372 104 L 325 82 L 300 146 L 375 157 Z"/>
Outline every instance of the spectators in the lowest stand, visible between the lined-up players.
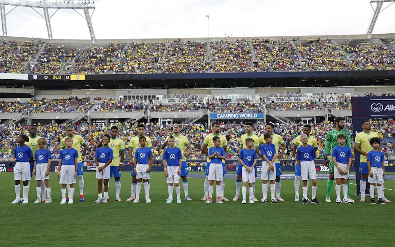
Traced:
<path fill-rule="evenodd" d="M 137 134 L 137 123 L 127 124 L 122 126 L 120 123 L 119 127 L 119 138 L 121 138 L 126 144 L 126 159 L 128 160 L 128 144 L 130 138 Z M 395 128 L 394 122 L 390 121 L 376 121 L 372 122 L 372 130 L 379 133 L 380 139 L 382 140 L 383 152 L 386 154 L 392 154 L 395 152 Z M 0 154 L 2 156 L 10 156 L 10 150 L 16 145 L 16 138 L 18 134 L 27 134 L 27 124 L 17 124 L 11 126 L 0 125 Z M 58 157 L 58 152 L 61 149 L 60 140 L 66 136 L 66 126 L 63 124 L 37 124 L 38 135 L 43 136 L 48 140 L 47 147 L 51 150 L 55 157 Z M 85 158 L 92 159 L 96 151 L 96 143 L 101 140 L 104 134 L 108 133 L 111 126 L 105 126 L 104 124 L 88 125 L 87 123 L 77 124 L 75 126 L 75 134 L 81 135 L 87 143 L 87 154 Z M 245 134 L 243 123 L 221 123 L 221 133 L 228 140 L 228 152 L 227 158 L 237 158 L 240 136 Z M 254 132 L 261 136 L 265 133 L 265 124 L 258 123 L 254 126 Z M 333 123 L 320 123 L 312 124 L 311 135 L 314 136 L 318 141 L 317 157 L 323 158 L 324 146 L 325 146 L 325 134 L 334 128 Z M 352 135 L 352 128 L 348 126 L 350 136 Z M 301 134 L 303 129 L 303 123 L 300 124 L 275 124 L 275 133 L 282 136 L 283 140 L 287 145 L 287 150 L 284 155 L 285 159 L 291 157 L 293 140 Z M 152 139 L 152 153 L 154 159 L 161 159 L 163 150 L 160 149 L 160 145 L 171 133 L 171 125 L 150 123 L 146 124 L 146 135 Z M 203 140 L 207 134 L 210 134 L 211 130 L 207 128 L 206 124 L 186 124 L 181 126 L 181 134 L 185 135 L 192 146 L 192 153 L 189 159 L 200 160 L 204 159 L 202 156 L 201 148 Z M 12 154 L 11 154 L 12 156 Z"/>

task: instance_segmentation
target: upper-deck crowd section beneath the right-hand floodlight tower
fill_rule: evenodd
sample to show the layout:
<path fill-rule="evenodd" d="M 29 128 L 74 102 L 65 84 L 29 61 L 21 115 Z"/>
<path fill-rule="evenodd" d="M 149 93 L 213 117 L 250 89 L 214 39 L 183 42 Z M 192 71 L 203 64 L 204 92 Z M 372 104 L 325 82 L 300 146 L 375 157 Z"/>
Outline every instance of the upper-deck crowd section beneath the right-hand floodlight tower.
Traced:
<path fill-rule="evenodd" d="M 339 44 L 349 56 L 355 57 L 363 70 L 393 70 L 395 56 L 388 47 L 373 39 L 342 40 Z"/>

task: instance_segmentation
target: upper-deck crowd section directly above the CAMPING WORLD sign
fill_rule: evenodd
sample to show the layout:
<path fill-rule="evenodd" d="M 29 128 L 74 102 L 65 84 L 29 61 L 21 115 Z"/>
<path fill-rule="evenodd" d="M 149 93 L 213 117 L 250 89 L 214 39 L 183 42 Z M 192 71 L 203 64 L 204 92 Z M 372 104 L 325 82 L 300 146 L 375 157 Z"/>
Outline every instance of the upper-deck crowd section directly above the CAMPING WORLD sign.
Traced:
<path fill-rule="evenodd" d="M 210 57 L 214 60 L 213 72 L 255 72 L 251 51 L 246 39 L 211 42 Z"/>

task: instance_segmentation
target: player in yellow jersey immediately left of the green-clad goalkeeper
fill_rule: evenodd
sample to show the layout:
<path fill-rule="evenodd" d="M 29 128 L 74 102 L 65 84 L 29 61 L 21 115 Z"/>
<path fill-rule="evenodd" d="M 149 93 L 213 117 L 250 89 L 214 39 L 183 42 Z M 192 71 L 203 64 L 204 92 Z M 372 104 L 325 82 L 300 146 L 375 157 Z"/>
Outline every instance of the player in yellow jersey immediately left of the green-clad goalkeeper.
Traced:
<path fill-rule="evenodd" d="M 312 146 L 314 148 L 314 151 L 317 151 L 317 139 L 310 136 L 311 132 L 311 126 L 309 124 L 306 124 L 303 126 L 303 134 L 307 136 L 307 144 Z M 295 166 L 295 181 L 294 181 L 294 187 L 295 187 L 295 202 L 299 202 L 299 185 L 300 185 L 300 180 L 302 179 L 302 172 L 300 170 L 300 166 L 298 163 L 295 162 L 295 156 L 296 156 L 296 151 L 297 148 L 302 145 L 302 141 L 300 140 L 301 136 L 297 136 L 295 140 L 293 140 L 293 149 L 292 149 L 292 165 Z M 307 189 L 308 189 L 308 180 L 307 180 Z M 308 199 L 307 199 L 308 200 Z"/>

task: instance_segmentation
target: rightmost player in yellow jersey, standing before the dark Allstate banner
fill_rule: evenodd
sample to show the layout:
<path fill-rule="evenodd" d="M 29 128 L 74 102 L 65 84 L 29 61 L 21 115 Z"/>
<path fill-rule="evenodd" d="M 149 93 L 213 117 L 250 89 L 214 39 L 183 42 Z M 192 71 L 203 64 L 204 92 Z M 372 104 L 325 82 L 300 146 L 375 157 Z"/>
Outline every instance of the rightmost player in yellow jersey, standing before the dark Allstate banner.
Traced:
<path fill-rule="evenodd" d="M 361 180 L 359 181 L 359 189 L 361 190 L 361 200 L 359 202 L 365 202 L 365 191 L 366 191 L 366 179 L 368 178 L 369 170 L 367 164 L 367 154 L 372 150 L 372 146 L 370 145 L 369 141 L 374 138 L 378 137 L 376 132 L 371 131 L 371 124 L 368 120 L 365 120 L 361 123 L 363 131 L 358 133 L 355 136 L 354 141 L 354 150 L 361 154 L 361 159 L 359 161 L 359 173 L 361 173 Z M 381 143 L 380 148 L 378 149 L 381 151 Z M 391 202 L 387 200 L 384 196 L 384 184 L 381 185 L 383 190 L 382 200 L 383 202 Z M 369 194 L 369 192 L 368 192 Z"/>

